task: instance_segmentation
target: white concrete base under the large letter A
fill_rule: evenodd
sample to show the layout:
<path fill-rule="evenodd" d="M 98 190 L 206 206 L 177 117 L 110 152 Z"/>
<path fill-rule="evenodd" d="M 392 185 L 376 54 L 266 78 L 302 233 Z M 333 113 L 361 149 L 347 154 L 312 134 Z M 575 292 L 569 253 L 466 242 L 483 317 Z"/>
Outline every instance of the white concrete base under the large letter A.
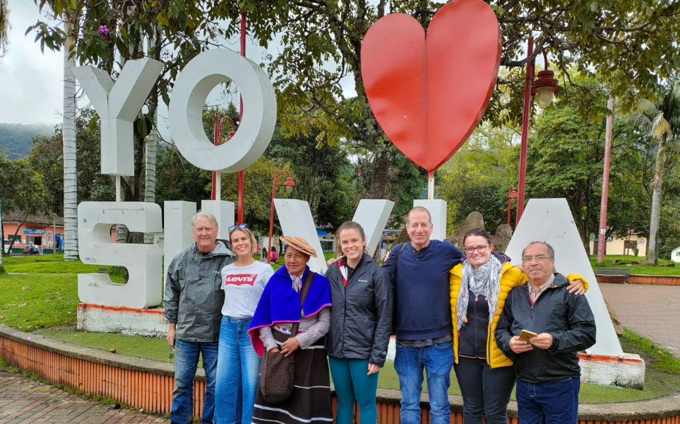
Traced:
<path fill-rule="evenodd" d="M 645 388 L 645 360 L 640 355 L 623 353 L 619 356 L 589 355 L 581 353 L 578 365 L 585 383 L 605 386 Z"/>

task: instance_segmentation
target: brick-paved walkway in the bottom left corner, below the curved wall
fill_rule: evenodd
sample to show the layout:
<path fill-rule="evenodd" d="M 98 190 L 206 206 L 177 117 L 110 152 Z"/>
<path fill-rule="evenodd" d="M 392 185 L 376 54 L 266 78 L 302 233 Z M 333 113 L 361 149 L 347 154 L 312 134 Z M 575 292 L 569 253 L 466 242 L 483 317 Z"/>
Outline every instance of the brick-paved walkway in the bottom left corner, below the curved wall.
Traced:
<path fill-rule="evenodd" d="M 146 413 L 114 409 L 0 367 L 0 424 L 168 422 Z"/>

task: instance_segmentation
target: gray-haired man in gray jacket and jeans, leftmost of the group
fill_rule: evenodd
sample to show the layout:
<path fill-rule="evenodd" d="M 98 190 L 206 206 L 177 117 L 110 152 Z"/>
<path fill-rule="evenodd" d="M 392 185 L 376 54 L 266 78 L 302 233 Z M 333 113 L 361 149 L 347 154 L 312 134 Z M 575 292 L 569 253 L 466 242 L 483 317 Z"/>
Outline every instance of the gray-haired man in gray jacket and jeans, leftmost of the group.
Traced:
<path fill-rule="evenodd" d="M 191 423 L 193 417 L 193 379 L 199 353 L 205 370 L 202 422 L 213 423 L 217 345 L 225 302 L 220 271 L 234 261 L 227 241 L 217 240 L 213 214 L 196 213 L 191 228 L 196 243 L 170 262 L 163 299 L 167 343 L 176 353 L 170 421 L 177 424 Z"/>

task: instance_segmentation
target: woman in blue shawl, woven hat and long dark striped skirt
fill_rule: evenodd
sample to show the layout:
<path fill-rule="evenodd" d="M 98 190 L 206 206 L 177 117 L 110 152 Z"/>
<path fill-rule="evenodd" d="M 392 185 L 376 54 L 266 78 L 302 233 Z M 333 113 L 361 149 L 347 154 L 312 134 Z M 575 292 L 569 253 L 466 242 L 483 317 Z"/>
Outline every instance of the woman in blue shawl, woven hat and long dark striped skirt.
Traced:
<path fill-rule="evenodd" d="M 255 398 L 253 424 L 333 423 L 330 378 L 324 336 L 330 326 L 330 287 L 326 277 L 317 273 L 307 281 L 309 257 L 316 250 L 301 237 L 281 237 L 285 243 L 282 266 L 269 279 L 248 334 L 253 348 L 290 355 L 295 352 L 294 388 L 283 404 L 268 404 L 260 391 Z M 303 284 L 309 284 L 304 304 L 300 305 Z M 297 334 L 292 324 L 299 322 Z"/>

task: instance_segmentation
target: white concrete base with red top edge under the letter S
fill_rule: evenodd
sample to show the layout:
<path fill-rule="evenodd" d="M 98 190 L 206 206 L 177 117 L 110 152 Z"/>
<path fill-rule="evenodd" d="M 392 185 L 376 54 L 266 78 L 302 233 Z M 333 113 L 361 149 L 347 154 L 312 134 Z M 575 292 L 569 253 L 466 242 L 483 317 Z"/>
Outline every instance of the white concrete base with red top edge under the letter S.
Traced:
<path fill-rule="evenodd" d="M 139 310 L 79 303 L 78 329 L 95 333 L 165 338 L 167 319 L 160 307 Z"/>

